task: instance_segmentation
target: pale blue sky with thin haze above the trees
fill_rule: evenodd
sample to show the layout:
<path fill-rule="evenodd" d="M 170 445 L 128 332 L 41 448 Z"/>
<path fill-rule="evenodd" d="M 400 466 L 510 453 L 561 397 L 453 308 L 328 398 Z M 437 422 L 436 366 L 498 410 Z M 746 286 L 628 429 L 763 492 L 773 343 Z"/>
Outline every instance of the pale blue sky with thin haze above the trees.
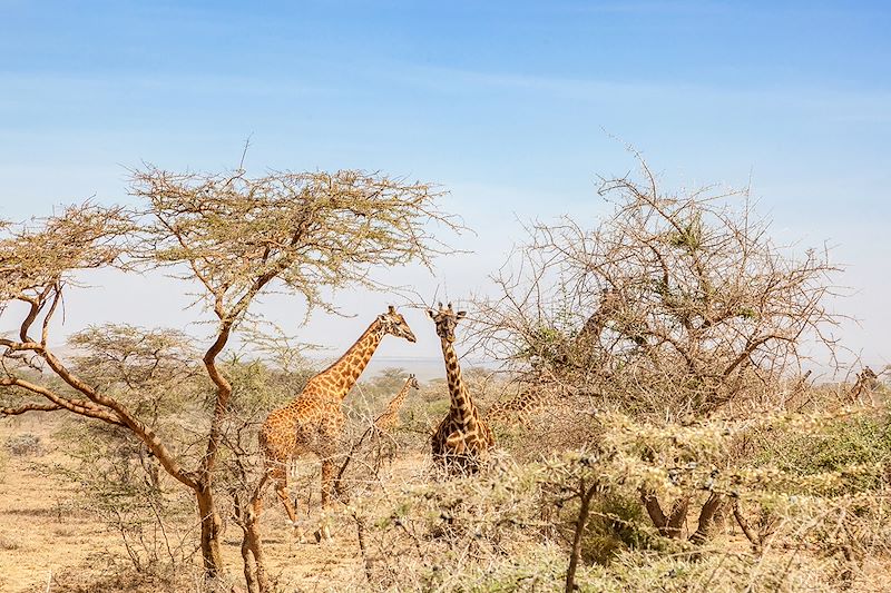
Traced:
<path fill-rule="evenodd" d="M 751 175 L 781 240 L 835 246 L 855 293 L 839 308 L 862 319 L 845 340 L 888 364 L 888 31 L 884 2 L 0 0 L 0 218 L 127 201 L 125 167 L 144 160 L 232 167 L 249 136 L 256 172 L 359 167 L 449 189 L 477 253 L 396 275 L 460 299 L 487 289 L 518 219 L 603 211 L 596 175 L 634 167 L 613 135 L 667 188 Z M 133 322 L 121 291 L 147 295 L 146 325 L 194 317 L 135 281 L 72 295 L 66 327 Z M 341 298 L 360 318 L 386 302 Z M 363 324 L 320 316 L 303 334 L 341 347 Z"/>

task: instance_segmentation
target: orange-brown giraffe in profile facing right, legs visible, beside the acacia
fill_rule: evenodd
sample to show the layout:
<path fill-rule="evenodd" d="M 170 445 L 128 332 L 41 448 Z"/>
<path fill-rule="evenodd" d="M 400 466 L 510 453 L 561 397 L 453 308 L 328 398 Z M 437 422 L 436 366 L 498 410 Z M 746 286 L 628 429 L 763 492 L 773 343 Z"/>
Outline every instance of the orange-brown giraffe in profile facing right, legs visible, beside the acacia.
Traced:
<path fill-rule="evenodd" d="M 415 342 L 409 324 L 391 305 L 343 356 L 311 378 L 294 401 L 271 412 L 260 429 L 260 447 L 266 466 L 264 480 L 274 482 L 275 494 L 294 526 L 297 517 L 287 496 L 288 463 L 306 453 L 322 459 L 322 507 L 327 507 L 333 486 L 334 455 L 345 422 L 343 398 L 386 334 Z M 330 537 L 326 532 L 324 535 Z"/>

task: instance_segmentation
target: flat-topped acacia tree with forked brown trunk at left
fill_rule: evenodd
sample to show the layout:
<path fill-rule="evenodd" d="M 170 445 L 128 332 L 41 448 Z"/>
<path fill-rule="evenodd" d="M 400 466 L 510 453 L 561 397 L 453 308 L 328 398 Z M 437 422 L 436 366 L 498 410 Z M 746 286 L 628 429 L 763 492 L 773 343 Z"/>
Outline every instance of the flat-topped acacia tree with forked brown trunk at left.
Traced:
<path fill-rule="evenodd" d="M 0 337 L 2 413 L 67 411 L 130 431 L 194 493 L 205 573 L 215 577 L 223 561 L 214 475 L 233 393 L 218 357 L 253 302 L 275 287 L 303 297 L 310 310 L 336 310 L 331 289 L 383 287 L 371 275 L 375 266 L 429 267 L 447 250 L 431 227 L 460 227 L 437 208 L 429 185 L 355 170 L 249 178 L 243 170 L 174 174 L 145 166 L 131 171 L 130 188 L 141 210 L 87 204 L 0 229 L 0 313 L 18 316 L 18 332 Z M 214 316 L 202 357 L 213 406 L 203 454 L 188 466 L 177 443 L 105 385 L 85 380 L 50 346 L 65 291 L 79 273 L 99 268 L 167 269 L 196 281 Z M 9 307 L 13 303 L 23 306 Z M 58 377 L 62 386 L 37 374 Z"/>

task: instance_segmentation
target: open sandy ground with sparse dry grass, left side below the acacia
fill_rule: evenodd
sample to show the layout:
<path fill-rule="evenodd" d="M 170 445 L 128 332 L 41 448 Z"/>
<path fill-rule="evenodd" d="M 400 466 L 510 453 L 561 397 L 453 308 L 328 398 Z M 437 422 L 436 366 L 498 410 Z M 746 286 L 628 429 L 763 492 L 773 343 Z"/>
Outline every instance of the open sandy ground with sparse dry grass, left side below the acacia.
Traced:
<path fill-rule="evenodd" d="M 39 416 L 7 421 L 0 425 L 0 443 L 16 441 L 20 435 L 39 438 L 39 444 L 26 453 L 3 453 L 0 473 L 0 591 L 200 590 L 200 563 L 199 557 L 195 559 L 194 544 L 197 521 L 188 513 L 165 520 L 166 528 L 170 530 L 170 545 L 183 546 L 174 555 L 185 553 L 194 563 L 177 563 L 175 570 L 179 574 L 175 576 L 156 576 L 153 574 L 155 566 L 140 567 L 140 573 L 130 554 L 143 556 L 145 562 L 148 548 L 158 546 L 156 551 L 163 559 L 165 551 L 160 548 L 167 545 L 165 537 L 157 533 L 146 534 L 148 540 L 157 540 L 145 546 L 134 542 L 134 548 L 128 552 L 121 532 L 109 524 L 107 517 L 96 513 L 79 484 L 61 472 L 76 464 L 66 455 L 69 442 L 58 437 L 60 429 L 61 423 Z M 412 454 L 398 459 L 392 473 L 388 471 L 383 477 L 391 484 L 418 480 L 429 471 L 427 465 L 423 455 Z M 312 510 L 316 514 L 317 470 L 315 462 L 307 462 L 300 468 L 297 483 L 306 488 L 296 492 L 304 496 L 306 490 L 312 492 Z M 350 591 L 364 585 L 362 557 L 351 524 L 334 528 L 334 538 L 325 545 L 316 544 L 311 536 L 306 543 L 300 543 L 286 525 L 286 516 L 274 496 L 267 496 L 266 505 L 270 508 L 264 523 L 267 569 L 282 591 Z M 305 504 L 301 507 L 306 511 Z M 306 531 L 312 531 L 313 524 L 305 513 L 301 521 Z M 235 527 L 228 531 L 231 536 L 224 540 L 224 554 L 226 562 L 235 569 L 241 563 L 241 534 Z M 157 562 L 164 563 L 165 560 Z"/>

